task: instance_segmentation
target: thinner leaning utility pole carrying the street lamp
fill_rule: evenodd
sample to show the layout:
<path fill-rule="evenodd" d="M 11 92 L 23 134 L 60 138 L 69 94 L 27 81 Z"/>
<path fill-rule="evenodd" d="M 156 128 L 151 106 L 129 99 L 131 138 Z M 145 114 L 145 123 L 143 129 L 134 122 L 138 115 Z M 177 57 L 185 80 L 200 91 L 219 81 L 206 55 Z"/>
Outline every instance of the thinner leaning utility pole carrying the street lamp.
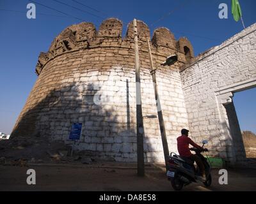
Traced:
<path fill-rule="evenodd" d="M 150 66 L 151 66 L 150 73 L 152 75 L 152 80 L 153 80 L 153 84 L 154 84 L 155 99 L 156 99 L 156 106 L 157 106 L 157 115 L 158 115 L 159 126 L 160 126 L 160 131 L 161 131 L 161 138 L 162 138 L 162 143 L 163 143 L 165 168 L 166 168 L 166 171 L 167 171 L 169 148 L 168 148 L 166 132 L 165 132 L 165 128 L 164 128 L 164 119 L 163 119 L 161 103 L 160 103 L 160 99 L 159 99 L 159 96 L 158 96 L 158 90 L 157 90 L 156 69 L 154 68 L 154 64 L 153 64 L 153 58 L 152 58 L 152 53 L 151 53 L 149 40 L 148 40 L 148 54 L 149 54 L 149 58 L 150 58 Z"/>

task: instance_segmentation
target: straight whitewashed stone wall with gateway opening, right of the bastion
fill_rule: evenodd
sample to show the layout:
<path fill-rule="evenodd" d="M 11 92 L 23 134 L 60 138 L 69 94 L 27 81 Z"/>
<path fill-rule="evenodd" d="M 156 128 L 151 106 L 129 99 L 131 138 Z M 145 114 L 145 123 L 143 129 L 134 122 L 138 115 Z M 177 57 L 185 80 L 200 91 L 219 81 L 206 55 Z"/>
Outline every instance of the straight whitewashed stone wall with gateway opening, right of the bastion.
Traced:
<path fill-rule="evenodd" d="M 199 55 L 180 76 L 192 138 L 198 143 L 209 140 L 212 156 L 242 161 L 232 96 L 256 86 L 256 24 Z"/>

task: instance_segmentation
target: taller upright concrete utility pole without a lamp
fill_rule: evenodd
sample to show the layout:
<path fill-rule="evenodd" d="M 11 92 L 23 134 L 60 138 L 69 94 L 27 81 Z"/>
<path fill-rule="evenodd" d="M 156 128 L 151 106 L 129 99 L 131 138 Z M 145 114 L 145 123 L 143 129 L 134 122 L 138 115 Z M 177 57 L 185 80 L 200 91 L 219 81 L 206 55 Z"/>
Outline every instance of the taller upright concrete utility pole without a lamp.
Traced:
<path fill-rule="evenodd" d="M 143 147 L 143 116 L 141 108 L 141 87 L 140 87 L 140 60 L 139 60 L 139 47 L 138 47 L 138 31 L 137 20 L 133 20 L 134 29 L 134 50 L 135 50 L 135 69 L 136 69 L 136 122 L 137 122 L 137 171 L 138 176 L 143 177 L 144 170 L 144 147 Z"/>

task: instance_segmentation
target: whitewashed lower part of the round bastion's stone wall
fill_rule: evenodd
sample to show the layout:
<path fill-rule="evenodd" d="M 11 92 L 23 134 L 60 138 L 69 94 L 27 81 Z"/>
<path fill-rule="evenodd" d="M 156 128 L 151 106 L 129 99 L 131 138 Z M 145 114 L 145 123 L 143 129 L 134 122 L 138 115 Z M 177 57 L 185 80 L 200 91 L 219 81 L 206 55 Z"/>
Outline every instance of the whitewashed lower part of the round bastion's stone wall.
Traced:
<path fill-rule="evenodd" d="M 95 75 L 95 80 L 88 80 L 83 75 L 77 82 L 79 85 L 77 89 L 81 89 L 78 95 L 81 95 L 79 98 L 82 103 L 88 102 L 85 102 L 88 95 L 84 93 L 90 92 L 90 90 L 95 91 L 93 95 L 91 92 L 89 94 L 93 96 L 90 98 L 90 103 L 95 106 L 97 114 L 92 115 L 88 108 L 83 110 L 80 108 L 79 113 L 75 113 L 74 120 L 71 122 L 83 123 L 82 137 L 77 143 L 76 149 L 98 152 L 98 156 L 102 158 L 113 157 L 115 161 L 136 161 L 136 83 L 134 69 L 116 66 L 108 74 L 109 76 L 104 76 L 102 73 L 99 76 Z M 87 75 L 94 74 L 88 73 Z M 102 79 L 99 80 L 99 78 Z M 174 71 L 166 68 L 157 71 L 157 81 L 169 149 L 177 152 L 176 138 L 180 135 L 180 129 L 188 128 L 188 115 L 186 114 L 178 69 Z M 145 159 L 146 161 L 163 162 L 163 145 L 158 119 L 147 117 L 157 116 L 149 69 L 141 69 L 141 92 L 145 129 Z M 86 114 L 83 115 L 85 112 L 88 112 L 87 116 Z M 50 129 L 54 130 L 54 128 L 55 124 Z M 59 138 L 67 143 L 68 128 L 70 128 L 69 123 L 67 130 L 61 128 L 61 138 Z"/>

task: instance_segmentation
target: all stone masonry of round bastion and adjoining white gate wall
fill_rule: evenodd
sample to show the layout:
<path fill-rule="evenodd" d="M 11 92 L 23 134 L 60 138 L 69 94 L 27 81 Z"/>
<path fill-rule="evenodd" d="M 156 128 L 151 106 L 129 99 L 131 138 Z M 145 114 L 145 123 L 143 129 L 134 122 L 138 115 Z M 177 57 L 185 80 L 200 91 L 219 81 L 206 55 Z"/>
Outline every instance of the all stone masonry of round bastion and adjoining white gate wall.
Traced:
<path fill-rule="evenodd" d="M 232 103 L 234 92 L 256 86 L 256 24 L 193 58 L 186 38 L 176 41 L 161 27 L 154 31 L 152 54 L 157 67 L 178 55 L 172 66 L 161 66 L 156 77 L 169 149 L 177 152 L 180 129 L 193 140 L 208 139 L 211 156 L 231 163 L 243 161 L 241 131 Z M 99 31 L 88 22 L 71 25 L 41 53 L 38 79 L 19 115 L 13 136 L 45 136 L 64 140 L 73 122 L 82 122 L 78 150 L 102 158 L 136 161 L 136 96 L 133 25 L 122 38 L 122 22 L 109 18 Z M 141 92 L 145 128 L 145 160 L 164 161 L 147 39 L 150 31 L 138 21 Z"/>

